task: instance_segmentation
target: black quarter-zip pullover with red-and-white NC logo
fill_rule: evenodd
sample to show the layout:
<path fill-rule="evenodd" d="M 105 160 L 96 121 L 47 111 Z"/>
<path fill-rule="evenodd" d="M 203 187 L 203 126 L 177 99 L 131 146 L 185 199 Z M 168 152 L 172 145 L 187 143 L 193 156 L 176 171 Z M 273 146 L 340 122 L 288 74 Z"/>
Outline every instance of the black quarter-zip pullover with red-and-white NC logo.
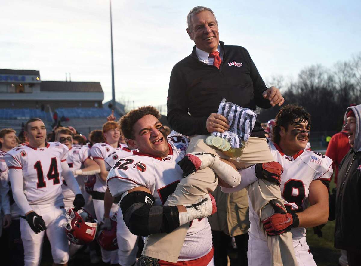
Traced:
<path fill-rule="evenodd" d="M 262 97 L 267 88 L 248 51 L 241 46 L 219 44 L 223 51 L 219 69 L 200 62 L 194 46 L 192 54 L 179 61 L 170 74 L 167 119 L 171 128 L 183 135 L 209 134 L 206 120 L 211 113 L 217 113 L 223 98 L 249 109 L 256 109 L 256 105 L 271 107 L 270 101 Z M 265 137 L 259 121 L 251 136 Z"/>

